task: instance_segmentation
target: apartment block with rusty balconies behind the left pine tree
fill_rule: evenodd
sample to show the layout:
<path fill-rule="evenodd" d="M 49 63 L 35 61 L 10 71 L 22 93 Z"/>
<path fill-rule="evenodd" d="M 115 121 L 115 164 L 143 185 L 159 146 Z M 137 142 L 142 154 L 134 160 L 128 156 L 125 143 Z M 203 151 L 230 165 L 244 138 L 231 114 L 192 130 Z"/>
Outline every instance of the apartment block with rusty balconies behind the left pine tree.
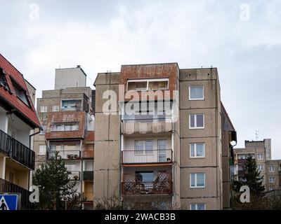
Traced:
<path fill-rule="evenodd" d="M 74 188 L 84 209 L 93 208 L 94 96 L 95 91 L 86 87 L 86 73 L 77 66 L 55 69 L 54 90 L 44 90 L 37 99 L 44 130 L 34 137 L 35 167 L 58 152 L 70 180 L 77 181 Z"/>

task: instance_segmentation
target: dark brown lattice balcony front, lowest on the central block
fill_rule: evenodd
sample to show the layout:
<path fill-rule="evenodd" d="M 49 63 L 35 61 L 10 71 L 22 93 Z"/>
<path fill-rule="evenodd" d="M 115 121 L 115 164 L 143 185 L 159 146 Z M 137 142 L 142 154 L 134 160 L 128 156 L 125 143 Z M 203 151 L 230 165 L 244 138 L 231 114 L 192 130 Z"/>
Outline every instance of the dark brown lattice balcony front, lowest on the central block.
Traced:
<path fill-rule="evenodd" d="M 123 195 L 169 195 L 173 183 L 170 173 L 161 173 L 155 181 L 141 181 L 134 174 L 124 174 L 122 182 Z"/>

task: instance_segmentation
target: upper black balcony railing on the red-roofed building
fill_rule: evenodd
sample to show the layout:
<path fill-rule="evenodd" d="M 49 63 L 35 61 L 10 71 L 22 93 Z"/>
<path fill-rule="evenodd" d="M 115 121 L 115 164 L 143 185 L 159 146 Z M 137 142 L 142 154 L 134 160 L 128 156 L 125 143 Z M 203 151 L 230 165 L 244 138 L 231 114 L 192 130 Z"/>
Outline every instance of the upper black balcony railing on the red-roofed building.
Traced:
<path fill-rule="evenodd" d="M 34 169 L 35 153 L 27 146 L 0 130 L 0 151 L 25 167 Z"/>

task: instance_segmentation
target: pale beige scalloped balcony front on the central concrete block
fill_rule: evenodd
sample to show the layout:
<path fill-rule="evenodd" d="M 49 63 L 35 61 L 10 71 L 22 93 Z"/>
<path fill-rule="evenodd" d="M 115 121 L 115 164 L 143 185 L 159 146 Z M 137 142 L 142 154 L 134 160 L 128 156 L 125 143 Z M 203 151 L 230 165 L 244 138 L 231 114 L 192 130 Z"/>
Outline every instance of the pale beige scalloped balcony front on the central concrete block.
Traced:
<path fill-rule="evenodd" d="M 122 120 L 122 134 L 146 134 L 146 133 L 162 133 L 171 132 L 172 123 L 170 120 L 164 119 L 136 119 Z"/>

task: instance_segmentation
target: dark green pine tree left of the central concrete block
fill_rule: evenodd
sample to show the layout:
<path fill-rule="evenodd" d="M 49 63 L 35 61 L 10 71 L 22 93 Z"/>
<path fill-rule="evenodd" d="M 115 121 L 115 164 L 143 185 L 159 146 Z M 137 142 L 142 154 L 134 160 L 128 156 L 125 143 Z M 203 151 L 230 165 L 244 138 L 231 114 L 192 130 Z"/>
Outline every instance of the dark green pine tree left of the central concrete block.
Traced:
<path fill-rule="evenodd" d="M 70 182 L 69 174 L 58 152 L 36 170 L 33 184 L 39 186 L 38 209 L 81 209 L 80 197 L 73 188 L 76 180 Z"/>

